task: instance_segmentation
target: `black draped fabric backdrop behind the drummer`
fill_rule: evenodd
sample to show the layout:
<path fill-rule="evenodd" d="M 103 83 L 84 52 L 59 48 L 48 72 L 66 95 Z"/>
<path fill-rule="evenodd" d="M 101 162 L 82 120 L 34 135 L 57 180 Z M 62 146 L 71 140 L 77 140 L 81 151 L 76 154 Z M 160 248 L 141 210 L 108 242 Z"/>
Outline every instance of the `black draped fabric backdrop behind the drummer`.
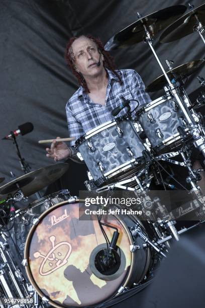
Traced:
<path fill-rule="evenodd" d="M 195 7 L 202 3 L 193 2 Z M 106 43 L 116 32 L 137 20 L 137 12 L 145 16 L 182 4 L 186 1 L 1 0 L 1 137 L 24 122 L 32 122 L 34 131 L 18 137 L 21 153 L 32 170 L 53 164 L 45 156 L 45 145 L 37 141 L 68 136 L 65 104 L 78 87 L 64 60 L 69 37 L 89 33 Z M 163 45 L 158 42 L 159 36 L 155 38 L 154 47 L 163 63 L 165 59 L 174 60 L 177 66 L 203 58 L 205 46 L 198 34 Z M 143 42 L 112 55 L 119 68 L 136 69 L 145 85 L 161 74 Z M 204 68 L 197 74 L 205 77 Z M 188 94 L 199 87 L 197 74 L 191 75 L 186 83 Z M 162 92 L 157 92 L 151 97 L 161 95 Z M 0 162 L 0 177 L 6 178 L 4 183 L 10 181 L 10 171 L 16 176 L 22 175 L 12 141 L 1 140 Z M 64 188 L 77 194 L 84 178 L 85 166 L 71 162 L 61 182 Z"/>

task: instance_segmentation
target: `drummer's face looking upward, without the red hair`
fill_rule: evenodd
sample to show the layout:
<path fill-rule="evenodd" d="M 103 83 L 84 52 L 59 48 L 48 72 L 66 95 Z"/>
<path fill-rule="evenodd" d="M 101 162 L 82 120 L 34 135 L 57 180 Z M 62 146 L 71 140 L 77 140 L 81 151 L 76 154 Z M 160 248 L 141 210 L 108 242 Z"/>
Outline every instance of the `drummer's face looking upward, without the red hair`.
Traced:
<path fill-rule="evenodd" d="M 74 54 L 74 65 L 77 71 L 86 78 L 86 76 L 97 76 L 103 69 L 102 64 L 97 66 L 99 61 L 99 52 L 97 50 L 96 44 L 84 37 L 81 36 L 76 39 L 72 44 L 72 51 Z M 102 55 L 100 57 L 102 62 Z"/>

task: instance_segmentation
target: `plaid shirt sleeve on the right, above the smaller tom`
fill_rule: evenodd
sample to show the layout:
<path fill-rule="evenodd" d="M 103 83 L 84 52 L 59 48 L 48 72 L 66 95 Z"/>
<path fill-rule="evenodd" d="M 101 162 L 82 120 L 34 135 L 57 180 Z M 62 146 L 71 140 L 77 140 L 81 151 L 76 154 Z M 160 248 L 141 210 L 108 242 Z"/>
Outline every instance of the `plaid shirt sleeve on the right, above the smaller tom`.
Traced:
<path fill-rule="evenodd" d="M 145 84 L 143 83 L 142 78 L 135 70 L 133 70 L 132 75 L 131 93 L 133 99 L 138 100 L 139 106 L 149 104 L 152 101 L 149 95 L 145 92 Z"/>

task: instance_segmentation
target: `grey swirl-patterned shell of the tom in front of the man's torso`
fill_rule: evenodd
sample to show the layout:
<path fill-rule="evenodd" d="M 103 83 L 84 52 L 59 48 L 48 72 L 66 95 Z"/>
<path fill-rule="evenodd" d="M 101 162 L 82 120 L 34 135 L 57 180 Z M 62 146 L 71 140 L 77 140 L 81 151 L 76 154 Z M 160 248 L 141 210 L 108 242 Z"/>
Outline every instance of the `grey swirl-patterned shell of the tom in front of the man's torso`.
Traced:
<path fill-rule="evenodd" d="M 116 130 L 117 126 L 123 131 L 122 137 L 119 136 Z M 87 140 L 92 142 L 94 151 L 89 150 Z M 107 145 L 112 143 L 115 144 L 114 147 L 107 150 Z M 126 147 L 131 148 L 133 157 L 129 156 Z M 141 162 L 143 157 L 142 151 L 145 147 L 138 137 L 137 131 L 136 133 L 133 131 L 129 121 L 123 120 L 111 127 L 105 123 L 103 130 L 97 132 L 96 128 L 96 133 L 90 134 L 90 137 L 88 133 L 86 139 L 80 142 L 77 149 L 80 151 L 93 180 L 97 180 L 108 173 L 110 174 L 109 177 L 112 177 L 112 171 L 114 173 L 114 170 L 120 169 L 120 166 L 123 164 L 129 165 L 131 161 Z M 103 172 L 98 167 L 99 162 L 104 167 Z"/>

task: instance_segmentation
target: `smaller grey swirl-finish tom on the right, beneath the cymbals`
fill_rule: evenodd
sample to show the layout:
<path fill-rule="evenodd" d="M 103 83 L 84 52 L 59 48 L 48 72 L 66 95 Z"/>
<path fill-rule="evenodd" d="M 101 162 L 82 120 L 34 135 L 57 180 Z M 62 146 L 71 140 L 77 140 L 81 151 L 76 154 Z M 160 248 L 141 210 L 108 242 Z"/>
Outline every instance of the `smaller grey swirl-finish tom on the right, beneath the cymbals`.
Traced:
<path fill-rule="evenodd" d="M 183 139 L 178 132 L 180 126 L 185 137 L 190 137 L 183 112 L 170 96 L 163 96 L 137 112 L 140 122 L 150 144 L 157 153 L 166 153 L 180 148 Z"/>

